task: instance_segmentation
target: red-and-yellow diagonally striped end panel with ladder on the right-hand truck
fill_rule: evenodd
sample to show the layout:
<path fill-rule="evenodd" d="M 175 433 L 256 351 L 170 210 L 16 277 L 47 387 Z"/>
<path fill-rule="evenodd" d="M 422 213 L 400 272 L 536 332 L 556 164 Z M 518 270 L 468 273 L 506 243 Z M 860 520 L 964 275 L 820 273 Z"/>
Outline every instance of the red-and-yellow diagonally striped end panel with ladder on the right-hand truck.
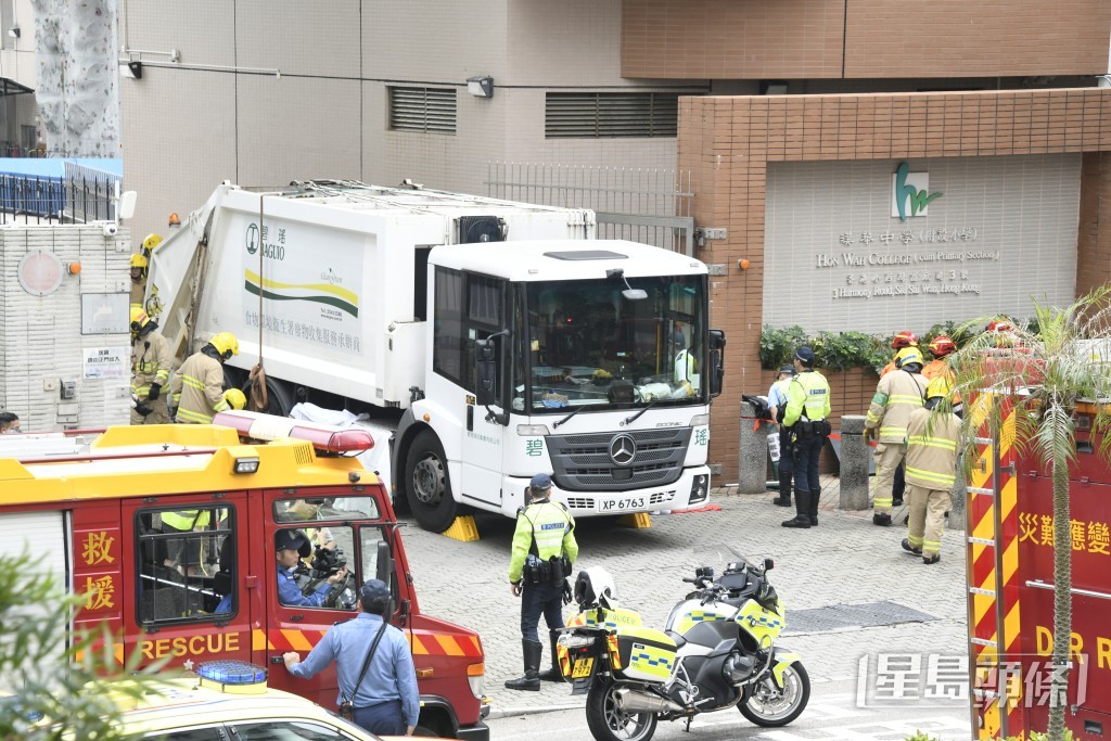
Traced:
<path fill-rule="evenodd" d="M 973 409 L 1003 403 L 985 393 Z M 987 422 L 977 431 L 979 460 L 964 508 L 969 698 L 977 739 L 1005 739 L 1023 725 L 1021 668 L 1010 660 L 1021 650 L 1014 417 L 1003 411 L 1002 431 Z"/>

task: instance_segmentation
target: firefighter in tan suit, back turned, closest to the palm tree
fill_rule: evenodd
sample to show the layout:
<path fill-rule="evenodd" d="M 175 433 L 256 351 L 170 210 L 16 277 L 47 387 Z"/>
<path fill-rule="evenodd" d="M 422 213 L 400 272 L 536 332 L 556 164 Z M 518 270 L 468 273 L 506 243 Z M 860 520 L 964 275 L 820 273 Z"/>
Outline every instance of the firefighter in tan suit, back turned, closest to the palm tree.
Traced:
<path fill-rule="evenodd" d="M 944 515 L 957 478 L 961 420 L 952 412 L 931 411 L 945 398 L 949 388 L 949 379 L 944 375 L 930 381 L 925 407 L 911 413 L 907 430 L 910 520 L 902 547 L 914 555 L 920 554 L 923 563 L 941 560 Z"/>

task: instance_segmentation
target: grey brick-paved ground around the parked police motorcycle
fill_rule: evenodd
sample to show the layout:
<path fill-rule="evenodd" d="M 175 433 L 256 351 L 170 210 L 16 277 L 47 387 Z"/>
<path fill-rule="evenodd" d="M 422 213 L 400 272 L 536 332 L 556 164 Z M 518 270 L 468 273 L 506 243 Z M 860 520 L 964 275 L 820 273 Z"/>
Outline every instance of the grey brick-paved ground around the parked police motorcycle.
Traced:
<path fill-rule="evenodd" d="M 828 483 L 832 491 L 825 507 L 837 497 L 835 480 Z M 648 530 L 580 520 L 577 565 L 605 568 L 622 602 L 639 610 L 645 624 L 662 628 L 685 593 L 681 578 L 698 565 L 713 564 L 699 549 L 728 544 L 754 559 L 770 557 L 775 561 L 770 578 L 788 611 L 780 643 L 802 653 L 815 695 L 825 698 L 822 707 L 837 708 L 843 697 L 855 697 L 858 688 L 869 698 L 897 702 L 967 691 L 957 687 L 963 671 L 957 663 L 967 655 L 961 532 L 947 532 L 941 562 L 924 565 L 901 550 L 905 528 L 877 528 L 870 512 L 823 507 L 819 528 L 787 530 L 780 527 L 787 510 L 770 504 L 771 497 L 718 491 L 712 504 L 720 510 L 654 515 Z M 479 514 L 477 523 L 482 540 L 474 543 L 416 525 L 406 529 L 421 610 L 479 631 L 492 718 L 581 707 L 582 698 L 571 698 L 567 687 L 554 683 L 544 683 L 540 692 L 504 689 L 507 679 L 521 673 L 520 602 L 506 577 L 513 522 Z M 879 624 L 861 627 L 869 622 Z M 547 660 L 547 644 L 544 654 Z M 840 689 L 831 690 L 829 683 Z M 967 718 L 963 707 L 954 718 Z"/>

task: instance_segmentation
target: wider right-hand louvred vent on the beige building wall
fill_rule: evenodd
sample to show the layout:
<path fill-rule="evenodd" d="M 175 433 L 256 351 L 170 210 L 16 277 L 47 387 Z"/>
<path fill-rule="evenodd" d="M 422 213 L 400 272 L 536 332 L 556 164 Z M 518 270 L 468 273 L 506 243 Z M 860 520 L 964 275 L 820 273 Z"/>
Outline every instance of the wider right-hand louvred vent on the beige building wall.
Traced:
<path fill-rule="evenodd" d="M 679 93 L 549 92 L 544 101 L 548 139 L 674 137 Z"/>

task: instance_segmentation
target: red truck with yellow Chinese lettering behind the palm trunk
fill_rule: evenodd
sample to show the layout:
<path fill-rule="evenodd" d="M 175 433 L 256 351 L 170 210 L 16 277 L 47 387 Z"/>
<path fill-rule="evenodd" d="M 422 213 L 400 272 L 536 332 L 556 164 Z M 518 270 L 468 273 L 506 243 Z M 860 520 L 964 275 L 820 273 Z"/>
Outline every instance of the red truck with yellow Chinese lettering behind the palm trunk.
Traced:
<path fill-rule="evenodd" d="M 1093 404 L 1074 414 L 1069 471 L 1072 667 L 1065 725 L 1077 739 L 1111 735 L 1111 471 L 1095 451 Z M 1053 487 L 1050 472 L 1002 434 L 978 438 L 968 498 L 969 658 L 977 738 L 1044 731 L 1053 651 Z"/>

